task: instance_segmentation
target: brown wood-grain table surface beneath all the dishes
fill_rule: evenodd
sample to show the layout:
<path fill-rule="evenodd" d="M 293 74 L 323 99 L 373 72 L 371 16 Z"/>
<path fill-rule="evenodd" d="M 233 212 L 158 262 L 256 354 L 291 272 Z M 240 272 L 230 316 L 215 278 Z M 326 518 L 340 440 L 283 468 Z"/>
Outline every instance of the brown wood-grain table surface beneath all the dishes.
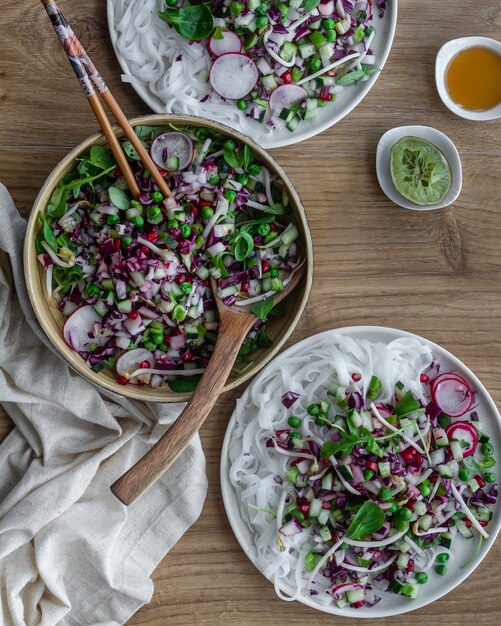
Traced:
<path fill-rule="evenodd" d="M 106 3 L 59 4 L 125 112 L 146 113 L 120 82 Z M 51 169 L 97 125 L 40 3 L 2 2 L 0 32 L 0 181 L 28 215 Z M 499 0 L 402 0 L 388 63 L 363 103 L 321 136 L 273 155 L 297 186 L 315 246 L 314 287 L 292 342 L 353 324 L 412 331 L 461 358 L 499 405 L 501 126 L 455 117 L 434 86 L 438 48 L 465 35 L 501 38 Z M 435 126 L 455 142 L 463 190 L 453 207 L 415 213 L 391 204 L 379 189 L 377 141 L 403 124 Z M 131 618 L 131 626 L 351 621 L 278 600 L 233 537 L 218 473 L 225 426 L 241 391 L 222 397 L 202 430 L 210 482 L 202 516 L 154 573 L 152 601 Z M 0 437 L 8 429 L 8 417 L 0 416 Z M 499 625 L 500 578 L 498 540 L 459 589 L 414 613 L 372 623 L 431 626 L 446 619 L 454 625 Z"/>

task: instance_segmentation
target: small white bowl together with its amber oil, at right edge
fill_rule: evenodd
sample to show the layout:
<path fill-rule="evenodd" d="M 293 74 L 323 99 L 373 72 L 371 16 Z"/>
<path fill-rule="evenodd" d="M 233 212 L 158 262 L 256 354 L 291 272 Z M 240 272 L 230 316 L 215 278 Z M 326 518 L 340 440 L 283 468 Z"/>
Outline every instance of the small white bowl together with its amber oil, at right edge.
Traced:
<path fill-rule="evenodd" d="M 454 70 L 455 85 L 449 74 Z M 437 54 L 435 82 L 442 102 L 459 117 L 478 122 L 501 118 L 501 43 L 488 37 L 448 41 Z"/>

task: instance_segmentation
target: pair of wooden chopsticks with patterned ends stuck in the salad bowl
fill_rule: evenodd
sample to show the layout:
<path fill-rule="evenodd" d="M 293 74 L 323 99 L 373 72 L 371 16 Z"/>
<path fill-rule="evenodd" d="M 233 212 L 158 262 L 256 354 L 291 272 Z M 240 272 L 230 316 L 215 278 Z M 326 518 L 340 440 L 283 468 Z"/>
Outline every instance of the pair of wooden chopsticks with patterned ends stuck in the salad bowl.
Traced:
<path fill-rule="evenodd" d="M 118 122 L 118 125 L 124 131 L 131 144 L 134 146 L 136 152 L 141 157 L 144 166 L 149 170 L 153 180 L 158 185 L 158 188 L 160 189 L 164 197 L 171 197 L 172 192 L 165 182 L 163 176 L 160 174 L 157 166 L 152 161 L 147 150 L 144 148 L 141 140 L 134 132 L 134 129 L 129 124 L 129 121 L 125 117 L 124 112 L 118 105 L 118 102 L 112 96 L 102 76 L 97 71 L 94 63 L 92 63 L 92 61 L 90 60 L 87 52 L 85 51 L 85 48 L 82 46 L 75 33 L 73 32 L 73 29 L 65 20 L 57 4 L 52 0 L 41 0 L 41 2 L 44 5 L 45 10 L 47 11 L 47 15 L 49 16 L 52 25 L 54 26 L 54 30 L 59 36 L 64 51 L 66 52 L 66 56 L 68 57 L 68 61 L 70 62 L 70 65 L 73 68 L 73 71 L 75 72 L 80 82 L 80 85 L 84 90 L 85 95 L 87 96 L 89 104 L 92 107 L 97 121 L 102 128 L 103 134 L 108 141 L 108 144 L 111 148 L 111 151 L 113 152 L 113 155 L 115 156 L 117 164 L 122 171 L 122 174 L 124 175 L 127 184 L 129 185 L 129 189 L 132 195 L 134 196 L 134 198 L 138 199 L 141 190 L 139 189 L 129 162 L 127 161 L 127 158 L 122 151 L 120 142 L 113 132 L 113 128 L 108 119 L 108 116 L 106 115 L 101 100 L 99 99 L 99 95 L 101 95 L 105 104 L 108 106 L 109 110 Z"/>

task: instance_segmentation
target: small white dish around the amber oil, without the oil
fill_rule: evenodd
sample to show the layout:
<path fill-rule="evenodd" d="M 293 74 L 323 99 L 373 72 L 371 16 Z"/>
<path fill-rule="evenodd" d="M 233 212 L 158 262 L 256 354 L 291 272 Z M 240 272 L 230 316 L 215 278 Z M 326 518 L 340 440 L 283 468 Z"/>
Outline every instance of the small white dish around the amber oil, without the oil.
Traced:
<path fill-rule="evenodd" d="M 495 120 L 501 118 L 501 103 L 485 111 L 470 111 L 456 104 L 447 91 L 446 73 L 449 63 L 459 52 L 474 46 L 490 48 L 498 54 L 501 54 L 501 43 L 495 39 L 489 39 L 489 37 L 461 37 L 460 39 L 451 39 L 451 41 L 448 41 L 440 48 L 435 60 L 435 82 L 438 95 L 445 106 L 456 115 L 459 115 L 459 117 L 476 122 Z"/>

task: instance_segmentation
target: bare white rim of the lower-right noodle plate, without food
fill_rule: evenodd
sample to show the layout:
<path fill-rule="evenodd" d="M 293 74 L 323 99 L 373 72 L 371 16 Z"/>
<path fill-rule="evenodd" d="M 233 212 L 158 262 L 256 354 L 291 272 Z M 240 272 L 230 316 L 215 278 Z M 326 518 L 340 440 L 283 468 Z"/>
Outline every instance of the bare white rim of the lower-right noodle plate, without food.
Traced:
<path fill-rule="evenodd" d="M 329 336 L 334 333 L 338 333 L 341 335 L 347 335 L 352 337 L 353 339 L 366 339 L 369 341 L 381 341 L 384 343 L 389 343 L 399 337 L 416 337 L 411 333 L 396 330 L 393 328 L 385 328 L 382 326 L 352 326 L 348 328 L 341 328 L 336 330 L 329 330 L 319 335 L 314 335 L 313 337 L 309 337 L 308 339 L 304 339 L 300 341 L 296 345 L 292 346 L 278 357 L 276 357 L 271 363 L 269 363 L 254 379 L 250 387 L 245 391 L 242 396 L 242 401 L 249 397 L 252 390 L 259 389 L 263 380 L 266 380 L 266 377 L 269 375 L 269 370 L 273 367 L 276 368 L 277 365 L 281 365 L 283 368 L 287 368 L 287 360 L 292 357 L 298 357 L 301 354 L 307 354 L 310 349 L 310 345 L 313 344 L 319 337 L 325 337 L 327 340 Z M 423 337 L 418 337 L 424 343 L 427 343 L 431 350 L 433 351 L 434 356 L 440 361 L 443 366 L 443 370 L 455 370 L 457 371 L 465 380 L 467 380 L 472 388 L 477 391 L 477 400 L 478 400 L 478 409 L 476 409 L 480 415 L 482 431 L 488 434 L 491 438 L 491 441 L 495 448 L 495 458 L 497 463 L 501 461 L 499 451 L 501 450 L 501 416 L 494 404 L 494 401 L 488 394 L 485 387 L 478 380 L 478 378 L 473 374 L 473 372 L 466 367 L 457 357 L 453 356 L 444 348 L 441 348 L 435 343 L 424 339 Z M 288 391 L 287 389 L 284 389 Z M 253 419 L 253 415 L 248 415 L 248 420 Z M 226 435 L 223 443 L 223 450 L 221 456 L 221 488 L 223 493 L 223 501 L 226 509 L 226 513 L 228 515 L 228 519 L 230 521 L 233 532 L 238 539 L 243 551 L 246 553 L 248 558 L 252 561 L 252 563 L 258 568 L 256 563 L 256 551 L 254 548 L 252 534 L 251 534 L 251 523 L 250 521 L 242 519 L 240 508 L 238 506 L 238 498 L 239 493 L 235 489 L 235 487 L 231 484 L 229 479 L 229 456 L 228 456 L 228 448 L 230 443 L 234 445 L 237 440 L 234 440 L 234 429 L 235 429 L 235 418 L 232 416 L 230 422 L 228 424 L 228 428 L 226 430 Z M 501 528 L 501 506 L 500 502 L 494 511 L 493 520 L 489 524 L 489 539 L 485 540 L 482 544 L 481 549 L 479 550 L 476 558 L 464 569 L 460 569 L 462 563 L 464 563 L 468 557 L 471 555 L 475 545 L 476 540 L 473 539 L 474 545 L 469 543 L 467 540 L 459 540 L 459 538 L 454 543 L 454 557 L 447 564 L 447 575 L 446 576 L 438 576 L 430 570 L 429 577 L 430 580 L 428 584 L 423 588 L 423 593 L 416 599 L 410 600 L 409 598 L 405 598 L 403 596 L 395 595 L 395 594 L 384 594 L 382 600 L 376 604 L 372 608 L 361 608 L 361 609 L 352 609 L 352 608 L 344 608 L 339 609 L 335 605 L 334 606 L 324 606 L 315 601 L 314 597 L 310 597 L 306 594 L 301 594 L 299 597 L 299 601 L 303 604 L 307 604 L 315 609 L 319 609 L 326 613 L 331 613 L 334 615 L 344 615 L 347 617 L 387 617 L 390 615 L 400 615 L 402 613 L 407 613 L 409 611 L 413 611 L 415 609 L 419 609 L 435 600 L 438 600 L 449 591 L 452 591 L 457 585 L 463 582 L 472 572 L 478 567 L 481 561 L 487 555 L 487 552 L 490 550 L 494 541 L 496 540 L 496 536 L 499 533 Z M 262 569 L 260 569 L 262 573 Z M 292 594 L 292 588 L 281 587 L 281 591 L 287 594 Z"/>

